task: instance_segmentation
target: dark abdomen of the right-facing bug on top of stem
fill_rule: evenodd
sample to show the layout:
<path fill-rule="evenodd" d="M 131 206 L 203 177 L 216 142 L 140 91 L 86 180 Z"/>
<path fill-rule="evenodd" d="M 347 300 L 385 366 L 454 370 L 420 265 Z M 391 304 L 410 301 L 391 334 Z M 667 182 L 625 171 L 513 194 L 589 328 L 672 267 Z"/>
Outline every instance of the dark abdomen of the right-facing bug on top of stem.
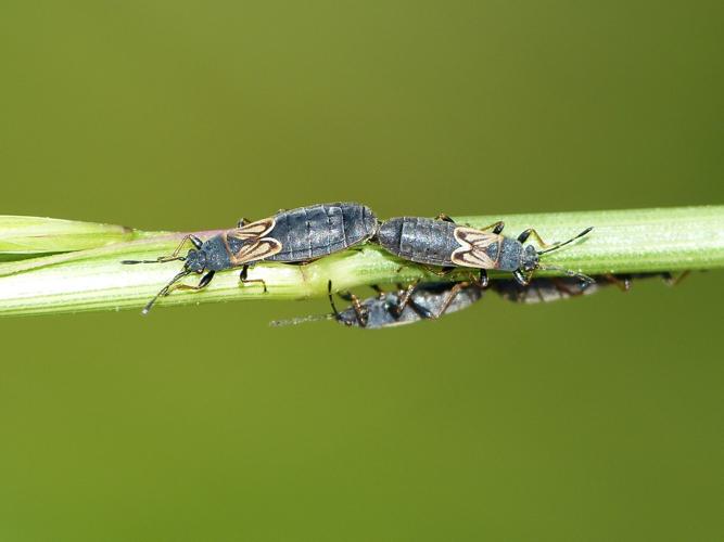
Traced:
<path fill-rule="evenodd" d="M 450 255 L 460 245 L 453 232 L 456 225 L 443 220 L 397 217 L 386 220 L 378 231 L 385 250 L 419 263 L 452 267 Z"/>

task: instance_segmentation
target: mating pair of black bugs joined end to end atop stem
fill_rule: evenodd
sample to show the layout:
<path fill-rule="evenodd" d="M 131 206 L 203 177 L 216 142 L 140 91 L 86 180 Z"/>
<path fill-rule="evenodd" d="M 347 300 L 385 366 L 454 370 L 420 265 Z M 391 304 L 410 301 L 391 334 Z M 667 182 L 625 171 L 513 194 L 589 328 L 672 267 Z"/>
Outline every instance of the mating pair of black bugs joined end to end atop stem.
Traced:
<path fill-rule="evenodd" d="M 584 282 L 593 279 L 551 266 L 541 264 L 539 257 L 587 234 L 587 228 L 562 243 L 546 244 L 538 233 L 529 229 L 517 238 L 501 235 L 503 222 L 475 229 L 456 224 L 449 217 L 437 219 L 397 217 L 380 221 L 372 210 L 357 203 L 331 203 L 282 210 L 255 222 L 241 219 L 237 228 L 226 230 L 202 241 L 195 235 L 183 237 L 170 256 L 155 260 L 125 260 L 123 263 L 163 263 L 183 261 L 183 269 L 164 286 L 143 308 L 148 313 L 155 301 L 174 289 L 202 289 L 217 271 L 241 268 L 242 283 L 264 281 L 247 279 L 249 268 L 259 261 L 306 263 L 323 256 L 344 250 L 366 241 L 381 245 L 399 258 L 443 268 L 463 267 L 479 270 L 477 283 L 487 285 L 487 270 L 512 272 L 522 285 L 529 284 L 536 269 L 556 269 Z M 533 235 L 543 250 L 523 243 Z M 186 256 L 180 251 L 187 242 L 191 248 Z M 195 286 L 178 284 L 182 278 L 198 273 L 202 279 Z"/>

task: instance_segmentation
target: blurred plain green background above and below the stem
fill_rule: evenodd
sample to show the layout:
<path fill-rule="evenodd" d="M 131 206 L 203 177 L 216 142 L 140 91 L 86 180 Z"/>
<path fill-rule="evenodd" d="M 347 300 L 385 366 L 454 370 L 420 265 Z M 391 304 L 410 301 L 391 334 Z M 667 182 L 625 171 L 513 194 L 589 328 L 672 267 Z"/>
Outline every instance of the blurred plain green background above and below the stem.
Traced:
<path fill-rule="evenodd" d="M 0 4 L 0 212 L 721 204 L 721 1 Z M 534 225 L 534 224 L 532 224 Z M 0 321 L 0 541 L 721 540 L 722 273 L 356 332 Z"/>

